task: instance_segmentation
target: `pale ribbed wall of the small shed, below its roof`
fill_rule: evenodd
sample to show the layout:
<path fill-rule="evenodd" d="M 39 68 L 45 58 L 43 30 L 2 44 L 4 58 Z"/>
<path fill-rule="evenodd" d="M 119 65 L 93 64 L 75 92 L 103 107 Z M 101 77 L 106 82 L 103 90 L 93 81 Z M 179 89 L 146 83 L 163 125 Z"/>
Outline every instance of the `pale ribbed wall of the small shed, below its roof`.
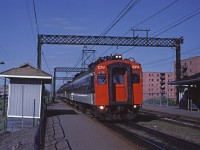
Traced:
<path fill-rule="evenodd" d="M 41 80 L 10 79 L 8 117 L 39 118 L 41 108 Z M 35 105 L 34 105 L 35 103 Z"/>

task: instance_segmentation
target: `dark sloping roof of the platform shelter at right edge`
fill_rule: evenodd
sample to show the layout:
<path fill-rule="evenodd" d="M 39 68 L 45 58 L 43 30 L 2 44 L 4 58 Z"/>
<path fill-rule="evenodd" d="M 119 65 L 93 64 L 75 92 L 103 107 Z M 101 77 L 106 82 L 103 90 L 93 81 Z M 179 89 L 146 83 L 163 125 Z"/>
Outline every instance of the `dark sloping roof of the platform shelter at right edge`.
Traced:
<path fill-rule="evenodd" d="M 200 73 L 194 74 L 189 77 L 182 78 L 180 80 L 172 81 L 170 85 L 191 85 L 200 84 Z"/>

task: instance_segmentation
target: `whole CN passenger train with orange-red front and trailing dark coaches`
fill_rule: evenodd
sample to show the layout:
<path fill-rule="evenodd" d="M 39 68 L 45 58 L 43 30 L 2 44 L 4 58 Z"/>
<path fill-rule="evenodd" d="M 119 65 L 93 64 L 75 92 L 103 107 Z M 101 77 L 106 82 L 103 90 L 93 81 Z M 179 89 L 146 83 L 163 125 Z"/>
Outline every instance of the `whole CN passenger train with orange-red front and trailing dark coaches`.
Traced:
<path fill-rule="evenodd" d="M 136 118 L 142 106 L 142 67 L 116 54 L 98 58 L 62 85 L 57 96 L 105 120 Z"/>

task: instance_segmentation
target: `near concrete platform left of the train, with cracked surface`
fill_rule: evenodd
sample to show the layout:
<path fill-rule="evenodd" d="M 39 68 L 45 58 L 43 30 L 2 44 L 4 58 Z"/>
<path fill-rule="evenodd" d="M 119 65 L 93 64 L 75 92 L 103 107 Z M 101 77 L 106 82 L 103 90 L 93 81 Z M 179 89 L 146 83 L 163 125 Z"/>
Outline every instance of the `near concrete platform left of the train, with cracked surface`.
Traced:
<path fill-rule="evenodd" d="M 48 106 L 45 150 L 139 150 L 103 124 L 59 101 Z"/>

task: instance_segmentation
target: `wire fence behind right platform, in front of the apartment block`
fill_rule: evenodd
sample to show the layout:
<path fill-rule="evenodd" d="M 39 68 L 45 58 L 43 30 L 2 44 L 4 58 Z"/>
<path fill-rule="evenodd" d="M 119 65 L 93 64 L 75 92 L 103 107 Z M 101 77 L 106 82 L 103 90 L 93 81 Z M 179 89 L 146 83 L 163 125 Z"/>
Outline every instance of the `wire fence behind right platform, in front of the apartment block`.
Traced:
<path fill-rule="evenodd" d="M 143 93 L 143 105 L 176 106 L 176 99 L 168 94 Z"/>

